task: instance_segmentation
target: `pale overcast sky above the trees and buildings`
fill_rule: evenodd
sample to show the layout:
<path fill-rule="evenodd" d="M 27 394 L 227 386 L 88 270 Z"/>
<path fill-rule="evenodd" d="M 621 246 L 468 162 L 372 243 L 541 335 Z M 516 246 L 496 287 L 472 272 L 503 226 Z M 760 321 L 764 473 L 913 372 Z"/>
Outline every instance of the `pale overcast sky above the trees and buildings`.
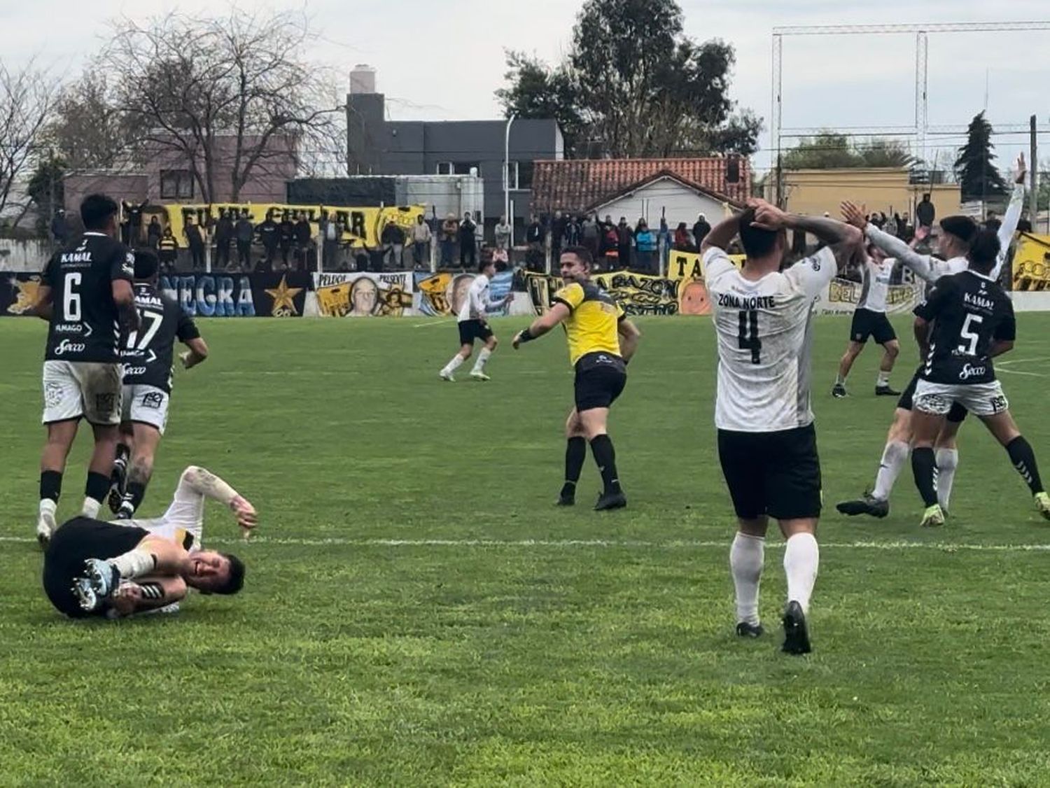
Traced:
<path fill-rule="evenodd" d="M 766 121 L 769 164 L 771 31 L 774 26 L 817 24 L 920 24 L 1050 20 L 1046 0 L 754 0 L 727 3 L 679 0 L 686 31 L 697 40 L 734 45 L 731 94 Z M 261 6 L 261 4 L 259 4 Z M 311 57 L 332 66 L 342 88 L 356 63 L 378 70 L 394 120 L 484 119 L 499 115 L 492 91 L 503 84 L 503 51 L 523 49 L 548 61 L 566 51 L 582 0 L 309 0 L 300 5 L 324 40 Z M 106 20 L 135 20 L 177 7 L 222 13 L 218 2 L 181 0 L 0 0 L 0 59 L 19 66 L 29 58 L 75 76 L 98 50 Z M 240 7 L 255 7 L 242 3 Z M 85 16 L 90 13 L 90 17 Z M 907 126 L 915 119 L 915 37 L 838 36 L 784 39 L 785 127 Z M 1050 124 L 1050 30 L 939 34 L 929 38 L 929 123 L 962 130 L 985 107 L 993 124 L 1027 123 L 1032 113 Z M 1048 126 L 1050 127 L 1050 126 Z M 940 137 L 957 147 L 959 136 Z M 789 141 L 784 141 L 786 147 Z M 1050 159 L 1050 133 L 1041 136 Z M 1022 135 L 996 137 L 1001 164 L 1027 149 Z M 943 154 L 946 157 L 946 154 Z M 943 158 L 941 164 L 943 165 Z"/>

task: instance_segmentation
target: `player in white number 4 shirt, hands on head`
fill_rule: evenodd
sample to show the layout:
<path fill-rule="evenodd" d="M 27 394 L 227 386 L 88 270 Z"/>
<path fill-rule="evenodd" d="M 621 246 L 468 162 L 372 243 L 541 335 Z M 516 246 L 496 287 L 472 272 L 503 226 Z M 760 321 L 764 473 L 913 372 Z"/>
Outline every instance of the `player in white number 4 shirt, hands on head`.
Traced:
<path fill-rule="evenodd" d="M 781 273 L 788 229 L 813 233 L 827 246 Z M 737 235 L 747 254 L 739 271 L 723 251 Z M 820 460 L 810 408 L 813 301 L 860 240 L 859 230 L 834 219 L 752 200 L 717 225 L 701 250 L 718 335 L 718 457 L 739 523 L 730 550 L 736 632 L 762 634 L 758 589 L 765 531 L 775 517 L 788 539 L 788 654 L 811 651 L 805 617 L 820 559 Z"/>

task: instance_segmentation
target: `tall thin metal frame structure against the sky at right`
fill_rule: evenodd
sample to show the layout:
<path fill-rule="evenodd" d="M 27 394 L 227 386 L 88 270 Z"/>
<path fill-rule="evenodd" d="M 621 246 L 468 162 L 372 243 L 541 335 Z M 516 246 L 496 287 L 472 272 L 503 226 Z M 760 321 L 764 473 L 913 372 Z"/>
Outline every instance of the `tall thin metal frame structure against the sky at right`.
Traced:
<path fill-rule="evenodd" d="M 915 79 L 915 124 L 912 126 L 867 126 L 850 127 L 853 131 L 860 131 L 864 134 L 879 135 L 892 134 L 900 136 L 905 134 L 911 136 L 916 142 L 918 157 L 926 158 L 926 135 L 933 132 L 958 131 L 954 127 L 930 128 L 928 124 L 928 100 L 926 88 L 928 84 L 928 49 L 927 38 L 931 34 L 950 33 L 1007 33 L 1050 30 L 1050 21 L 1047 22 L 948 22 L 930 24 L 860 24 L 860 25 L 806 25 L 773 28 L 773 111 L 770 127 L 770 144 L 773 157 L 773 196 L 776 205 L 783 207 L 783 170 L 781 168 L 781 155 L 783 152 L 784 129 L 783 119 L 783 39 L 791 36 L 915 36 L 916 40 L 916 79 Z M 1005 131 L 1028 131 L 1029 125 L 1014 124 L 1001 126 Z M 1050 131 L 1050 126 L 1040 127 L 1040 131 Z M 800 137 L 807 134 L 816 134 L 823 129 L 819 128 L 798 128 L 792 129 L 791 136 Z M 1036 163 L 1031 163 L 1034 173 Z M 1033 185 L 1034 188 L 1034 185 Z"/>

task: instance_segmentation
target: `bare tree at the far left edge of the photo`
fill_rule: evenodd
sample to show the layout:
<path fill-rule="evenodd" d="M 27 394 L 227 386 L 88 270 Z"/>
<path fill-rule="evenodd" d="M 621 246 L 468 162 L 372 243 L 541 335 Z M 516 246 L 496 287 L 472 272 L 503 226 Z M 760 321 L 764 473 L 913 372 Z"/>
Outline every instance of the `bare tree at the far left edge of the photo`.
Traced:
<path fill-rule="evenodd" d="M 29 210 L 22 186 L 41 150 L 56 88 L 57 81 L 32 62 L 13 71 L 0 61 L 0 215 L 14 212 L 15 226 Z"/>

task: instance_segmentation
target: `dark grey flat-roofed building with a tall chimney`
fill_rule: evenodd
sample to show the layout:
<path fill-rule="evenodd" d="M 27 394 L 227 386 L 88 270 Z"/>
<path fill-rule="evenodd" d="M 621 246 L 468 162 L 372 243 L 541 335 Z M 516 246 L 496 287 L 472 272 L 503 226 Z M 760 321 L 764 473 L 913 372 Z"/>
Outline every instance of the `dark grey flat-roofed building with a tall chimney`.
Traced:
<path fill-rule="evenodd" d="M 503 162 L 507 121 L 387 121 L 375 71 L 359 66 L 346 95 L 346 155 L 352 175 L 468 175 L 484 183 L 485 223 L 503 213 Z M 553 120 L 510 125 L 509 196 L 517 232 L 528 221 L 532 163 L 564 157 Z M 521 237 L 521 236 L 518 236 Z"/>

